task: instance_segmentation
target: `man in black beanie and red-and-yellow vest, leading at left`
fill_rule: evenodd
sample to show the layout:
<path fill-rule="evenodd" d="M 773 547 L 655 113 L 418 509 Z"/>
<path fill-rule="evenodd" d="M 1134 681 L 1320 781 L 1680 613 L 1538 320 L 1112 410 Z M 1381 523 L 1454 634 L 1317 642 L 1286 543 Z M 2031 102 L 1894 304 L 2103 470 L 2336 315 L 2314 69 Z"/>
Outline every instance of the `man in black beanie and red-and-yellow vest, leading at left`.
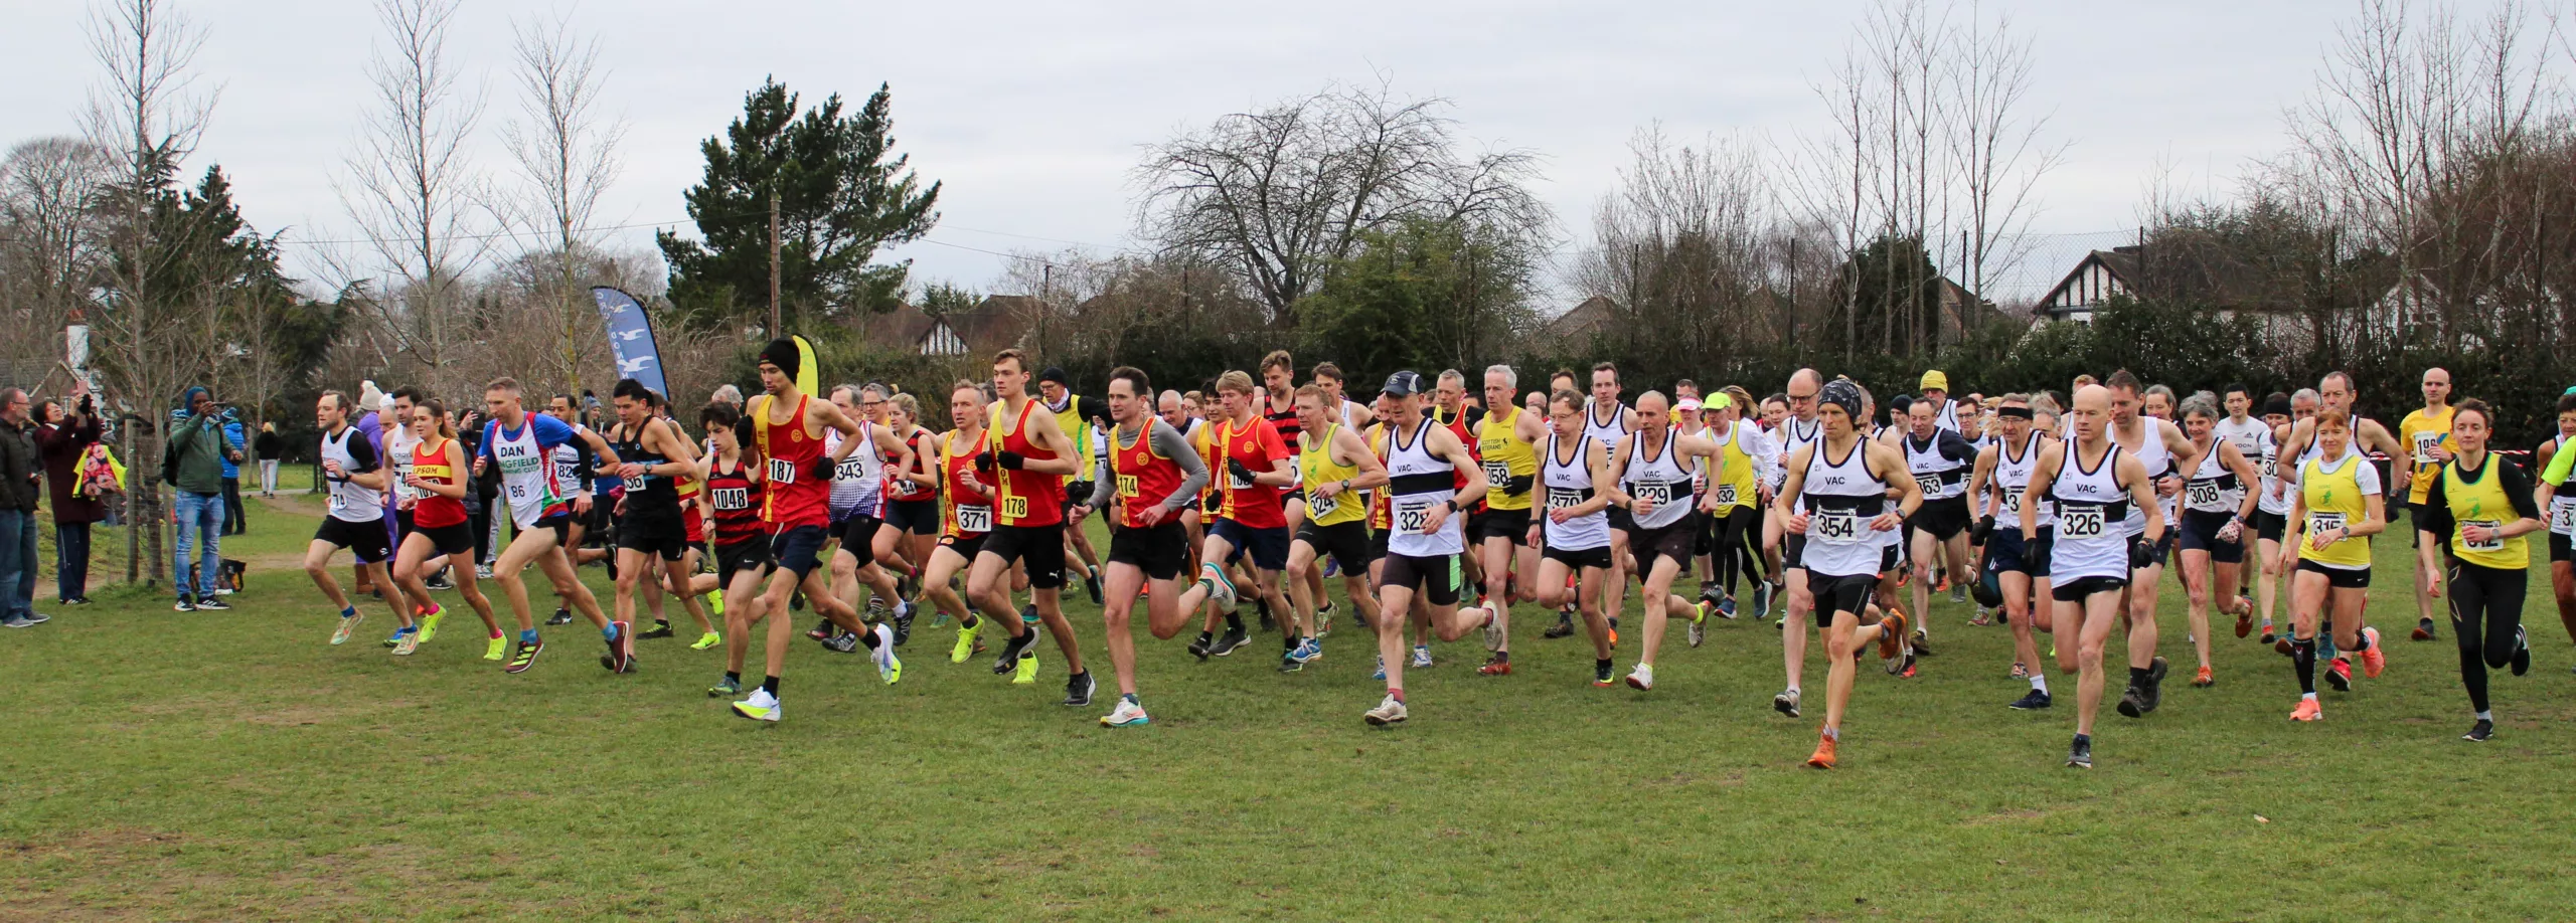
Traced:
<path fill-rule="evenodd" d="M 788 596 L 799 589 L 822 617 L 850 630 L 873 650 L 878 674 L 889 684 L 902 676 L 902 661 L 894 661 L 894 632 L 881 625 L 871 632 L 858 620 L 858 609 L 832 594 L 829 573 L 822 571 L 822 542 L 832 524 L 832 470 L 858 450 L 860 429 L 832 401 L 814 401 L 804 393 L 799 383 L 811 363 L 811 347 L 804 339 L 770 339 L 760 347 L 760 388 L 768 393 L 755 396 L 744 406 L 742 422 L 734 424 L 737 440 L 744 432 L 752 437 L 750 450 L 760 463 L 762 481 L 760 522 L 770 530 L 770 560 L 778 566 L 770 573 L 770 586 L 760 594 L 760 612 L 752 614 L 752 620 L 770 617 L 768 671 L 760 689 L 734 702 L 734 715 L 750 720 L 781 717 L 778 674 L 786 668 L 788 640 L 796 632 L 786 614 Z M 822 447 L 827 429 L 842 437 L 837 453 Z"/>

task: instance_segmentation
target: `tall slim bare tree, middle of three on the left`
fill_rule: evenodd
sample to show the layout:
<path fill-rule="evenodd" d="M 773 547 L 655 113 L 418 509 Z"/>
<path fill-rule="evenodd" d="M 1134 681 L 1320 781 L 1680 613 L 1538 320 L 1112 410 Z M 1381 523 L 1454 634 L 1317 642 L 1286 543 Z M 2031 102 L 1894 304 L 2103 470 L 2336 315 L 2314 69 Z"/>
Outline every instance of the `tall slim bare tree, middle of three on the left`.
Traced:
<path fill-rule="evenodd" d="M 438 393 L 466 388 L 456 363 L 474 345 L 459 337 L 456 285 L 489 249 L 474 234 L 479 188 L 466 159 L 482 100 L 459 90 L 448 64 L 456 3 L 376 0 L 384 46 L 366 67 L 376 108 L 332 183 L 363 244 L 327 257 L 343 288 L 374 280 L 368 306 Z"/>

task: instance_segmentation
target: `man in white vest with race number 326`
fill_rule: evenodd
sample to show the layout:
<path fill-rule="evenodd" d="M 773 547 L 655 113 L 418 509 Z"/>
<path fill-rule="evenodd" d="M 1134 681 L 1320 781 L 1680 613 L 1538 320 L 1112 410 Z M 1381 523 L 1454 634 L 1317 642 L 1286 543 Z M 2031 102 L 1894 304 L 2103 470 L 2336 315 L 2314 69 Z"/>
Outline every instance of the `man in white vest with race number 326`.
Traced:
<path fill-rule="evenodd" d="M 2123 375 L 2115 373 L 2112 381 Z M 2066 668 L 2063 638 L 2074 635 L 2076 738 L 2066 748 L 2066 766 L 2074 769 L 2092 769 L 2092 728 L 2102 710 L 2102 648 L 2120 622 L 2120 589 L 2146 571 L 2148 548 L 2164 537 L 2164 509 L 2156 506 L 2146 465 L 2107 432 L 2112 404 L 2112 388 L 2076 388 L 2074 409 L 2066 414 L 2074 440 L 2045 445 L 2027 488 L 2045 494 L 2058 519 L 2058 535 L 2048 548 L 2048 591 L 2056 607 L 2050 622 L 2061 638 L 2058 668 Z M 2040 540 L 2040 506 L 2022 504 L 2025 545 Z M 2120 527 L 2133 514 L 2146 519 L 2143 532 Z M 2164 658 L 2156 656 L 2151 625 L 2128 635 L 2128 694 L 2120 704 L 2141 702 L 2136 715 L 2151 712 L 2161 697 Z"/>

